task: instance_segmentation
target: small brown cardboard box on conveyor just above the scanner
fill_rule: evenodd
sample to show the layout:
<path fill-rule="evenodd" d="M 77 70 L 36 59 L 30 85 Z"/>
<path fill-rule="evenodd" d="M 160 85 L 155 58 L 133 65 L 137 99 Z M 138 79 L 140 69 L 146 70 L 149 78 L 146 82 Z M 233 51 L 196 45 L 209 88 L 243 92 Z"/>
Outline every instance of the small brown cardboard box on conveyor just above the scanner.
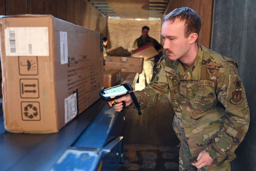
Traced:
<path fill-rule="evenodd" d="M 103 71 L 104 88 L 113 87 L 121 83 L 121 69 L 109 69 Z"/>

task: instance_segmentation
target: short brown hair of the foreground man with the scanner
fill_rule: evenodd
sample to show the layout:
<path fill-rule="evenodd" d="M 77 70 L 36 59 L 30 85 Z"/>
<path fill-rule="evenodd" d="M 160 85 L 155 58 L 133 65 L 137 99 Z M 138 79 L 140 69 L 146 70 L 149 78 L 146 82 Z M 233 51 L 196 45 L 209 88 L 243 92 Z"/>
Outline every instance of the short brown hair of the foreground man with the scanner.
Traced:
<path fill-rule="evenodd" d="M 174 22 L 176 18 L 179 18 L 181 21 L 185 20 L 185 37 L 188 37 L 191 33 L 199 35 L 201 18 L 193 9 L 188 7 L 176 8 L 163 17 L 162 24 L 165 21 Z"/>

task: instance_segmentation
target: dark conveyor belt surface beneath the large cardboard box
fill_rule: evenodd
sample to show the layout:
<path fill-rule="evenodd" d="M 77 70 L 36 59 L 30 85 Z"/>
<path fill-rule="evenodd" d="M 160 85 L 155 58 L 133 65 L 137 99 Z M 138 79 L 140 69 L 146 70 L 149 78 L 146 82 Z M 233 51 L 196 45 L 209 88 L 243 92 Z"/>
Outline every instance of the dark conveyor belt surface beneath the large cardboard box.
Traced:
<path fill-rule="evenodd" d="M 0 170 L 47 171 L 89 126 L 106 104 L 98 100 L 54 134 L 11 133 L 0 115 Z"/>

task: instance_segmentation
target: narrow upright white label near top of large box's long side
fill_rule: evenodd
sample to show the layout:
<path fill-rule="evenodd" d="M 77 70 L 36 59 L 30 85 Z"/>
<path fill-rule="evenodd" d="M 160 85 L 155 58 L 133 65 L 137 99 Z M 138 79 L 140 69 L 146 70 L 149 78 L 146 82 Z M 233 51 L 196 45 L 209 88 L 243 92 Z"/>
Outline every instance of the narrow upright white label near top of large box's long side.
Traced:
<path fill-rule="evenodd" d="M 60 31 L 60 63 L 68 63 L 68 34 Z"/>

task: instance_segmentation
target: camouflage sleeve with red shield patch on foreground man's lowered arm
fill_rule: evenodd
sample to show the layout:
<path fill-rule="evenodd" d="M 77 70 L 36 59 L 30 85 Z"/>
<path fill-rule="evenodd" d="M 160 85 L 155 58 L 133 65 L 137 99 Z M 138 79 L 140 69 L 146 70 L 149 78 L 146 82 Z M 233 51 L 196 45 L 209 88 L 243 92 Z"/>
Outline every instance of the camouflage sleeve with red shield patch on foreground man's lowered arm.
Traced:
<path fill-rule="evenodd" d="M 237 69 L 231 67 L 223 72 L 217 84 L 217 97 L 225 107 L 225 123 L 218 137 L 206 152 L 218 162 L 227 155 L 235 156 L 234 151 L 244 139 L 249 128 L 250 112 L 244 86 Z"/>

